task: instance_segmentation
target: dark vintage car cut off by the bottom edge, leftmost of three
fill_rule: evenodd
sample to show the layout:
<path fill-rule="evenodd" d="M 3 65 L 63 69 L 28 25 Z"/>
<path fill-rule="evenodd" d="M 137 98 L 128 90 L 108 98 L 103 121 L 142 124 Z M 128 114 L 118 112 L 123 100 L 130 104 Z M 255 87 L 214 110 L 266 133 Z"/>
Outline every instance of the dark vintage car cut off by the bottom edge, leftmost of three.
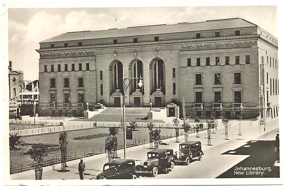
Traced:
<path fill-rule="evenodd" d="M 103 172 L 97 180 L 106 179 L 137 179 L 135 161 L 131 159 L 115 159 L 103 166 Z"/>

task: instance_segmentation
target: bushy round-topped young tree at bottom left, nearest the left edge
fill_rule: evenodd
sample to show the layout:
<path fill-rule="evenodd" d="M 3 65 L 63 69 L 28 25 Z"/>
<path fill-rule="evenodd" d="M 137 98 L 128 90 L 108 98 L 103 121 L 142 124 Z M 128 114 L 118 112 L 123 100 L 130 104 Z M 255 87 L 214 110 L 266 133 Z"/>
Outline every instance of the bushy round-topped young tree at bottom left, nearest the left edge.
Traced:
<path fill-rule="evenodd" d="M 33 159 L 33 161 L 38 164 L 38 166 L 34 168 L 36 180 L 42 179 L 42 168 L 40 168 L 40 165 L 43 163 L 44 158 L 47 157 L 47 151 L 48 147 L 46 145 L 44 145 L 43 143 L 37 143 L 33 144 L 31 146 L 31 149 L 29 149 L 27 152 L 30 155 L 31 159 Z"/>

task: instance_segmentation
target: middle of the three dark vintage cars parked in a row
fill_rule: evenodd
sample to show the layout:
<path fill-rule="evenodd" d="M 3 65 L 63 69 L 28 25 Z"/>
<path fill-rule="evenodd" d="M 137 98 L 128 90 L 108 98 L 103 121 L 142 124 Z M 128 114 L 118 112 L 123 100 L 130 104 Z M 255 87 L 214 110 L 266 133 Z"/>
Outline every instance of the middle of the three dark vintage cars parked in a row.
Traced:
<path fill-rule="evenodd" d="M 173 150 L 155 149 L 147 153 L 147 160 L 136 166 L 137 174 L 151 174 L 156 177 L 158 173 L 169 173 L 174 169 Z"/>

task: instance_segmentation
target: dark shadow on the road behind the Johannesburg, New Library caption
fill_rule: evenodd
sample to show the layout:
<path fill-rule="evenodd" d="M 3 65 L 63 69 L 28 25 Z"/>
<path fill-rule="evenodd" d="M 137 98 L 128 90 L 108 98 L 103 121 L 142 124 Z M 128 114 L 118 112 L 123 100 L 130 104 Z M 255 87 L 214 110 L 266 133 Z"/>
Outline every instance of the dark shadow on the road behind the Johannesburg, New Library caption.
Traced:
<path fill-rule="evenodd" d="M 249 155 L 217 178 L 279 178 L 279 167 L 274 167 L 279 155 L 275 141 L 248 141 L 245 145 L 229 150 L 223 155 Z"/>

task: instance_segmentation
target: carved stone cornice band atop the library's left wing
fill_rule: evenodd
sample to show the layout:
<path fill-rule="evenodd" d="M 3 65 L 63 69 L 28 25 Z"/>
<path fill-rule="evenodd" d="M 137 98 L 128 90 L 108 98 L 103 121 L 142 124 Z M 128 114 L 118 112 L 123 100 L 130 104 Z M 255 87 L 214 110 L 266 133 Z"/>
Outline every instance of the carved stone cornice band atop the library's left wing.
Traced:
<path fill-rule="evenodd" d="M 82 56 L 94 56 L 94 51 L 57 52 L 57 53 L 40 54 L 40 59 L 45 59 L 45 58 L 65 58 L 65 57 L 82 57 Z"/>

